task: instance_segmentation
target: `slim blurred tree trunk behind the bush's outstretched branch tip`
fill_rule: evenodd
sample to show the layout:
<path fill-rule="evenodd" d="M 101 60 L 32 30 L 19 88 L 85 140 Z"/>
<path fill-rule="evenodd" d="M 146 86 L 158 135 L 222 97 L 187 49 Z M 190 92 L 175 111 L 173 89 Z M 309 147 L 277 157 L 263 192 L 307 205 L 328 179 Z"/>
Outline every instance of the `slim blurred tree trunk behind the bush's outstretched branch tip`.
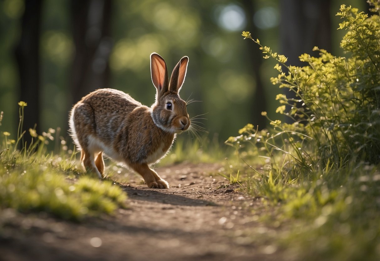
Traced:
<path fill-rule="evenodd" d="M 253 15 L 256 12 L 255 1 L 252 0 L 242 0 L 245 13 L 247 15 L 247 30 L 250 30 L 252 38 L 257 37 L 258 28 L 253 23 Z M 261 116 L 261 111 L 267 110 L 266 95 L 264 92 L 263 80 L 261 79 L 260 67 L 263 61 L 261 51 L 259 48 L 252 48 L 252 41 L 244 41 L 247 46 L 246 54 L 248 56 L 247 65 L 249 70 L 253 75 L 254 84 L 252 88 L 255 88 L 255 93 L 253 94 L 252 102 L 250 103 L 250 122 L 259 126 L 259 129 L 264 129 L 266 127 L 266 118 Z"/>

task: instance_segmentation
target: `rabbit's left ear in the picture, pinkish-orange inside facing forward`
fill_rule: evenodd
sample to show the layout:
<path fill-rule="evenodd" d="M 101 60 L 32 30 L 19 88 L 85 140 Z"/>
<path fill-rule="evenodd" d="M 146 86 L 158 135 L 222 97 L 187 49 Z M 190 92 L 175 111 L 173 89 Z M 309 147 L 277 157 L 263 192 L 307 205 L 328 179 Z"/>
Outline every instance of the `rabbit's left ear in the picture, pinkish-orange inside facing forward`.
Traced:
<path fill-rule="evenodd" d="M 165 93 L 168 90 L 168 70 L 165 60 L 157 53 L 150 54 L 150 75 L 157 93 Z"/>

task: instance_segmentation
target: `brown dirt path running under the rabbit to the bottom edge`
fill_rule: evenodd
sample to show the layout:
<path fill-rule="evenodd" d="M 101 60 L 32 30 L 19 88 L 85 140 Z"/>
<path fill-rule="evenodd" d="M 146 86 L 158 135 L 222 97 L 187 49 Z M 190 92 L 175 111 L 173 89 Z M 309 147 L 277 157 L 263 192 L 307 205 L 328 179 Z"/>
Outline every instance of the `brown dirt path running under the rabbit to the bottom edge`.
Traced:
<path fill-rule="evenodd" d="M 7 210 L 0 260 L 271 260 L 255 247 L 265 231 L 260 201 L 226 187 L 213 164 L 157 169 L 172 186 L 149 189 L 135 176 L 124 189 L 128 209 L 76 224 Z M 257 234 L 257 233 L 256 233 Z"/>

